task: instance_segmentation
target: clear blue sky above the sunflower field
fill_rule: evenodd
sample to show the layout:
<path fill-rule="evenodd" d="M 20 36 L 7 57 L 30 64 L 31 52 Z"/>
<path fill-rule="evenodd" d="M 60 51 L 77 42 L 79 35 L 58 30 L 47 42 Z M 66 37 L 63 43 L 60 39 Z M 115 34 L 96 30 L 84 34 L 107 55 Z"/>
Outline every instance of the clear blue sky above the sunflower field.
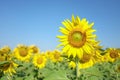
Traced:
<path fill-rule="evenodd" d="M 72 14 L 95 23 L 102 46 L 120 47 L 120 0 L 0 0 L 0 47 L 53 50 L 61 22 Z"/>

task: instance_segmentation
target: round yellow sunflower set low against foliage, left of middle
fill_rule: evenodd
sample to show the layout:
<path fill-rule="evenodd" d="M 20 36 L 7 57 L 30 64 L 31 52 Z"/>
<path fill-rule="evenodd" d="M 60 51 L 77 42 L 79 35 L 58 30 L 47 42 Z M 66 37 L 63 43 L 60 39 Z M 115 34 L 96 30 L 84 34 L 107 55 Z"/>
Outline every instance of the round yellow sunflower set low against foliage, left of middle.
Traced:
<path fill-rule="evenodd" d="M 45 67 L 46 61 L 47 61 L 46 57 L 42 54 L 37 54 L 33 57 L 33 64 L 39 69 Z"/>

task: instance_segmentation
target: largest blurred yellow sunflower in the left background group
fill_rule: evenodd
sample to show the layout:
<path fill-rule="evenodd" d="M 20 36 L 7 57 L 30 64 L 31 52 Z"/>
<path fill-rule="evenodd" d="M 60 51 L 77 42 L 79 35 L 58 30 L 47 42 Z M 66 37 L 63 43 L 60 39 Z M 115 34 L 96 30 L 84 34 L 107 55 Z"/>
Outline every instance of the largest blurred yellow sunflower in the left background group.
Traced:
<path fill-rule="evenodd" d="M 29 61 L 31 56 L 28 47 L 25 45 L 18 45 L 13 53 L 14 56 L 21 61 Z"/>

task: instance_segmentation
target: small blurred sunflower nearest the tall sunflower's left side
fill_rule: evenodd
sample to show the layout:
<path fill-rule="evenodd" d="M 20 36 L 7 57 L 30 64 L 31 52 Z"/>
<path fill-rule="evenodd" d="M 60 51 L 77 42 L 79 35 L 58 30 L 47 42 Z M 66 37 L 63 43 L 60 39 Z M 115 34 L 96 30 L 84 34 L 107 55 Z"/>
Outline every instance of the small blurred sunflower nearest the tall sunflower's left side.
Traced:
<path fill-rule="evenodd" d="M 53 62 L 60 62 L 60 61 L 62 61 L 63 60 L 63 58 L 61 57 L 61 53 L 60 53 L 60 51 L 58 51 L 58 50 L 54 50 L 52 53 L 51 53 L 51 60 L 53 61 Z"/>

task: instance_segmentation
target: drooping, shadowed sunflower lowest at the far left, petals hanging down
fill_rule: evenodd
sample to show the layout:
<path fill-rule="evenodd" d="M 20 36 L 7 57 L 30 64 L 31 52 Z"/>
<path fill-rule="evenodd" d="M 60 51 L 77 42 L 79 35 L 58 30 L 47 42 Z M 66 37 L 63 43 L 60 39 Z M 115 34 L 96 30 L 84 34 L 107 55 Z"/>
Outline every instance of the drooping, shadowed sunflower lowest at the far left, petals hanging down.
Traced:
<path fill-rule="evenodd" d="M 18 64 L 14 63 L 13 61 L 9 61 L 9 63 L 6 63 L 3 65 L 2 71 L 4 74 L 9 73 L 12 75 L 13 73 L 16 73 L 15 68 L 17 68 Z"/>

